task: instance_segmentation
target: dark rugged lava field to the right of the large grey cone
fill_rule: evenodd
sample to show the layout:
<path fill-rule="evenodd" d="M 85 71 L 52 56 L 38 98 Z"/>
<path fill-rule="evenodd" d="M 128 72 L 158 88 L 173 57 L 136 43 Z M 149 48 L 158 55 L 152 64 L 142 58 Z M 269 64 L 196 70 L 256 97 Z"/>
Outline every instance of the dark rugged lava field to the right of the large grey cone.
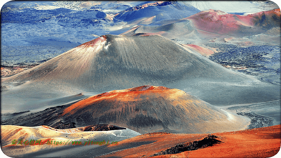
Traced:
<path fill-rule="evenodd" d="M 211 61 L 221 65 L 247 68 L 237 70 L 239 72 L 249 75 L 262 75 L 263 73 L 271 73 L 271 75 L 280 74 L 280 68 L 274 68 L 274 66 L 280 65 L 280 45 L 252 47 L 213 43 L 205 45 L 216 48 L 218 51 L 209 56 Z"/>

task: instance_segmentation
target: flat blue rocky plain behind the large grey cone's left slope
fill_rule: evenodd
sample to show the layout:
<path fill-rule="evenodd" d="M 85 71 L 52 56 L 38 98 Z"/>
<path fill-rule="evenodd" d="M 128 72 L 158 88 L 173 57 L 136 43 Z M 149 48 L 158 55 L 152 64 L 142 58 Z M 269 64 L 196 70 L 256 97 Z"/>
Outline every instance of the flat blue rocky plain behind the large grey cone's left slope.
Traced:
<path fill-rule="evenodd" d="M 99 16 L 101 12 L 96 9 L 37 10 L 36 4 L 20 8 L 21 3 L 11 1 L 1 9 L 1 65 L 30 64 L 53 58 L 107 34 L 106 26 L 124 24 Z"/>

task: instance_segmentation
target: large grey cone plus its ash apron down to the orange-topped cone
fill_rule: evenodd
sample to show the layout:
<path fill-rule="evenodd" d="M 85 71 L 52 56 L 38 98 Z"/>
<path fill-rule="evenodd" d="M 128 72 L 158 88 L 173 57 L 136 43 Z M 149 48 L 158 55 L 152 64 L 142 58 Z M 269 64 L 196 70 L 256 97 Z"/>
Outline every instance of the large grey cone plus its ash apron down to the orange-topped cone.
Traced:
<path fill-rule="evenodd" d="M 1 82 L 1 110 L 6 112 L 34 110 L 38 105 L 52 107 L 46 102 L 81 92 L 99 94 L 142 85 L 186 89 L 210 104 L 241 104 L 249 92 L 246 103 L 277 100 L 280 96 L 276 88 L 272 90 L 266 83 L 158 35 L 104 35 Z M 230 84 L 238 87 L 229 89 Z M 233 93 L 225 95 L 224 90 Z"/>

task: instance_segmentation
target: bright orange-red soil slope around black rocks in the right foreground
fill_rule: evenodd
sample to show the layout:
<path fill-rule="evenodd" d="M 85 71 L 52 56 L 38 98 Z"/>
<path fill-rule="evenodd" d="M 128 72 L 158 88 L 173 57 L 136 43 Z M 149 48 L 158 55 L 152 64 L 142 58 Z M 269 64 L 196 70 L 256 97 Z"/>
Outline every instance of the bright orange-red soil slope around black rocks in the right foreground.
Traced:
<path fill-rule="evenodd" d="M 250 130 L 240 130 L 234 132 L 213 133 L 217 141 L 208 147 L 200 147 L 200 142 L 205 140 L 214 142 L 214 139 L 208 138 L 208 134 L 171 134 L 171 133 L 148 133 L 126 139 L 119 144 L 109 145 L 108 148 L 120 150 L 100 157 L 150 157 L 169 149 L 170 152 L 180 151 L 180 147 L 193 144 L 192 151 L 184 151 L 177 154 L 165 154 L 153 156 L 160 157 L 272 157 L 280 150 L 280 125 L 255 128 Z M 212 136 L 215 135 L 215 136 Z M 199 139 L 199 140 L 198 140 Z M 144 145 L 138 145 L 146 142 Z M 194 143 L 195 142 L 195 143 Z M 182 144 L 184 143 L 184 144 Z M 179 145 L 182 144 L 182 145 Z M 197 145 L 197 146 L 196 146 Z M 172 149 L 172 150 L 171 150 Z"/>

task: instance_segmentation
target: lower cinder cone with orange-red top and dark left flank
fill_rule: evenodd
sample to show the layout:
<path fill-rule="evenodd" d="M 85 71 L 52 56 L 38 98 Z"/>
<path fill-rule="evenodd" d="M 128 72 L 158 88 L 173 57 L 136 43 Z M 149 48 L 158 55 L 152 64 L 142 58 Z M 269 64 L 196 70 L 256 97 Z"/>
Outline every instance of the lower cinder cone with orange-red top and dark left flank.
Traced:
<path fill-rule="evenodd" d="M 25 121 L 23 121 L 23 118 Z M 138 133 L 214 133 L 246 129 L 250 119 L 218 109 L 178 89 L 141 86 L 95 95 L 1 124 L 71 128 L 114 124 Z"/>

